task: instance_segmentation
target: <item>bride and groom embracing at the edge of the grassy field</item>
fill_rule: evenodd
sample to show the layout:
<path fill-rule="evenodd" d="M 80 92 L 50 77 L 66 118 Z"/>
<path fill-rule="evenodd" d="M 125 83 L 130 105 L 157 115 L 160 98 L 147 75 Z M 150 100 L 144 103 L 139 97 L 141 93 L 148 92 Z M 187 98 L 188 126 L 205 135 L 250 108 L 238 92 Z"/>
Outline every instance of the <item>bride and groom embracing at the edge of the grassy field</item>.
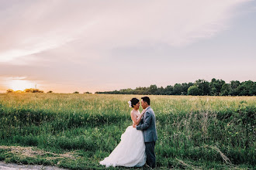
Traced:
<path fill-rule="evenodd" d="M 157 129 L 154 110 L 150 107 L 150 98 L 141 98 L 142 110 L 140 114 L 140 100 L 133 98 L 130 100 L 129 107 L 133 110 L 130 112 L 133 126 L 126 128 L 121 136 L 119 145 L 112 151 L 109 157 L 105 158 L 101 165 L 140 167 L 145 165 L 154 168 L 156 158 L 154 146 L 157 141 Z"/>

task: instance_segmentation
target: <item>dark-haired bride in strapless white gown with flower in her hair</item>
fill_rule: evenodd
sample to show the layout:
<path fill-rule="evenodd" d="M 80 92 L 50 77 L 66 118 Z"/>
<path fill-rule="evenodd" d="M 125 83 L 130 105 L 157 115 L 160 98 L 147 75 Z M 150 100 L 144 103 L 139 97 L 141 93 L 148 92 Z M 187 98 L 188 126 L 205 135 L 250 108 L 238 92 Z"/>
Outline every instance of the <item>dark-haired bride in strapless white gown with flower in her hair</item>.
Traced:
<path fill-rule="evenodd" d="M 133 107 L 130 112 L 130 117 L 133 123 L 140 124 L 141 118 L 145 110 L 140 114 L 140 100 L 133 98 L 128 101 L 129 107 Z M 146 162 L 144 135 L 142 131 L 137 131 L 133 126 L 126 128 L 126 131 L 121 136 L 119 145 L 112 151 L 109 157 L 99 162 L 100 165 L 109 166 L 125 166 L 125 167 L 140 167 Z"/>

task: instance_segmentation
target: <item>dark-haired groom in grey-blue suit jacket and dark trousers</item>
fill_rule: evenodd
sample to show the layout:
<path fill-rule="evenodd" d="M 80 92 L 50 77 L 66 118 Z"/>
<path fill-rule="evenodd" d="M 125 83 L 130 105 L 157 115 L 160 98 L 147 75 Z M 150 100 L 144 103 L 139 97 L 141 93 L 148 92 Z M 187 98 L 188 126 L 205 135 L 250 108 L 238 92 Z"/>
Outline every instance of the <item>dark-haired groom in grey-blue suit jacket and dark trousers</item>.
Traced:
<path fill-rule="evenodd" d="M 154 110 L 150 107 L 150 98 L 142 97 L 141 106 L 146 109 L 144 117 L 142 118 L 140 125 L 133 124 L 133 128 L 143 131 L 144 142 L 146 146 L 147 165 L 151 168 L 156 166 L 156 156 L 154 154 L 155 141 L 157 141 L 157 129 L 156 129 L 156 118 Z"/>

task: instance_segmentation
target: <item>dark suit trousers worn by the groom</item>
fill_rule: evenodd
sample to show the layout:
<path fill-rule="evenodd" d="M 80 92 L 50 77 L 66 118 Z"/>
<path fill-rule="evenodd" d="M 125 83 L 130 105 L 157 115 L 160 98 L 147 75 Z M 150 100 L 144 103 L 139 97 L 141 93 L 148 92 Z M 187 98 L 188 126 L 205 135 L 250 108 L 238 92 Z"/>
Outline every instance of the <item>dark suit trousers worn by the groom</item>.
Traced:
<path fill-rule="evenodd" d="M 146 155 L 147 155 L 147 165 L 151 168 L 156 166 L 156 155 L 154 154 L 155 141 L 145 142 Z"/>

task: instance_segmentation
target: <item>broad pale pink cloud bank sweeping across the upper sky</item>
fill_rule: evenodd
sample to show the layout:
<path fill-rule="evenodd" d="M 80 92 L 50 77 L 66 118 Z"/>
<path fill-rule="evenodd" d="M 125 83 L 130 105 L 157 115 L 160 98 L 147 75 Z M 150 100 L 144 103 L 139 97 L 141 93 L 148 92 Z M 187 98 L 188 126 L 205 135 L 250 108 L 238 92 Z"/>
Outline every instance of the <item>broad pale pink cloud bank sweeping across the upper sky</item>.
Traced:
<path fill-rule="evenodd" d="M 56 49 L 75 39 L 95 52 L 142 42 L 186 46 L 226 29 L 227 19 L 243 2 L 248 1 L 2 2 L 6 8 L 0 13 L 0 62 Z"/>

